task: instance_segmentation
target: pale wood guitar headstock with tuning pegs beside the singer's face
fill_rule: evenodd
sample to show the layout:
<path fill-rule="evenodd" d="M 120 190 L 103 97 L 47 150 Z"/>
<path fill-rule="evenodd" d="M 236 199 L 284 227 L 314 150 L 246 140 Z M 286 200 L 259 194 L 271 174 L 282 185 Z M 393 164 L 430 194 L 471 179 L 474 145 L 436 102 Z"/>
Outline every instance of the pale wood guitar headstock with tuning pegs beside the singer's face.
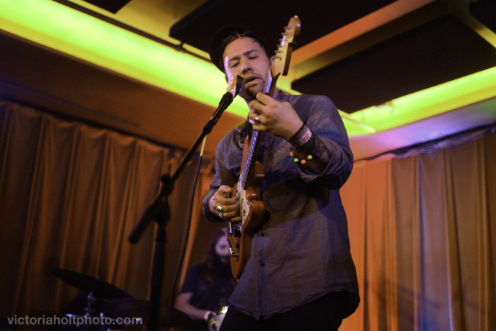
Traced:
<path fill-rule="evenodd" d="M 269 95 L 273 94 L 279 75 L 286 76 L 288 74 L 291 53 L 293 52 L 295 40 L 300 35 L 300 26 L 300 18 L 293 16 L 284 28 L 276 54 L 274 55 L 274 63 L 271 67 L 272 84 Z"/>

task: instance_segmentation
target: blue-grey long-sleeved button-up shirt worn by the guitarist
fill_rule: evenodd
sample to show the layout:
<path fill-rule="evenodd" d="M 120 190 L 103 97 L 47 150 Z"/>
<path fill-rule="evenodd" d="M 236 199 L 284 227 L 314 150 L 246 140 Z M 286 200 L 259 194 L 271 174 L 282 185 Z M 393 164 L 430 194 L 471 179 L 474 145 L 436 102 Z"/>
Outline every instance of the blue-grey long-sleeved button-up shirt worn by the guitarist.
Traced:
<path fill-rule="evenodd" d="M 254 318 L 269 318 L 333 291 L 354 293 L 357 300 L 359 293 L 339 196 L 353 167 L 342 119 L 326 96 L 280 93 L 278 99 L 291 103 L 325 143 L 330 159 L 322 174 L 305 172 L 290 156 L 286 140 L 263 135 L 261 200 L 269 216 L 253 236 L 250 258 L 229 301 Z M 239 179 L 244 137 L 250 130 L 245 122 L 217 147 L 215 175 L 203 200 L 208 220 L 222 221 L 210 212 L 208 201 L 221 185 L 234 186 Z M 356 305 L 358 301 L 351 310 Z"/>

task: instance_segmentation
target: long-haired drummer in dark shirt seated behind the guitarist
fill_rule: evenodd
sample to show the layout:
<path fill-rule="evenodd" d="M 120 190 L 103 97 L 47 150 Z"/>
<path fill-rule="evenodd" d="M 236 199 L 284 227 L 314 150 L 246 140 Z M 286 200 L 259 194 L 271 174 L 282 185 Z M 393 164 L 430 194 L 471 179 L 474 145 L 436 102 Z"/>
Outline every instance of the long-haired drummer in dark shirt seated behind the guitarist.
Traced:
<path fill-rule="evenodd" d="M 210 313 L 219 313 L 227 306 L 236 284 L 225 230 L 218 230 L 210 239 L 203 262 L 188 270 L 176 298 L 176 308 L 191 318 L 184 331 L 208 330 Z"/>

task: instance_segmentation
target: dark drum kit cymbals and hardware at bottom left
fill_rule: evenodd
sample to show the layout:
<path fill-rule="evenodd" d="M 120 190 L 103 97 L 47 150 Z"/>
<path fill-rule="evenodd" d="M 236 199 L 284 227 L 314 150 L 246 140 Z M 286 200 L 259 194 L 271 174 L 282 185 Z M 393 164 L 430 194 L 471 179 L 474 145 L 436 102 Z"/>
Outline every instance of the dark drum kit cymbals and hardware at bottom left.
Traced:
<path fill-rule="evenodd" d="M 122 289 L 85 274 L 67 269 L 56 269 L 53 274 L 65 283 L 78 288 L 86 294 L 86 305 L 83 315 L 66 313 L 66 318 L 77 319 L 81 330 L 123 330 L 122 321 L 134 325 L 147 325 L 149 321 L 150 302 L 133 298 Z M 85 322 L 97 320 L 101 323 Z M 159 308 L 157 325 L 165 327 L 181 327 L 189 322 L 190 318 L 181 310 L 167 307 Z M 82 322 L 81 322 L 82 321 Z M 79 329 L 78 329 L 79 330 Z"/>

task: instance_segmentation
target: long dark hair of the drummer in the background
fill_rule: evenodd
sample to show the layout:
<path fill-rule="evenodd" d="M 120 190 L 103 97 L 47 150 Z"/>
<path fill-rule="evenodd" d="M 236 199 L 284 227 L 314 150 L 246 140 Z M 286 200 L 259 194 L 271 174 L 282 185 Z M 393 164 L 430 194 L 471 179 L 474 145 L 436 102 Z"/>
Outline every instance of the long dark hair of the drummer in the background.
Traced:
<path fill-rule="evenodd" d="M 232 286 L 234 288 L 236 281 L 231 274 L 230 257 L 224 257 L 225 262 L 222 262 L 221 257 L 215 252 L 215 245 L 221 237 L 225 236 L 225 229 L 220 229 L 214 232 L 210 242 L 208 243 L 208 249 L 205 254 L 205 259 L 201 265 L 201 275 L 203 279 L 207 282 L 210 287 L 215 286 L 220 277 L 231 277 Z M 227 262 L 227 263 L 226 263 Z"/>

